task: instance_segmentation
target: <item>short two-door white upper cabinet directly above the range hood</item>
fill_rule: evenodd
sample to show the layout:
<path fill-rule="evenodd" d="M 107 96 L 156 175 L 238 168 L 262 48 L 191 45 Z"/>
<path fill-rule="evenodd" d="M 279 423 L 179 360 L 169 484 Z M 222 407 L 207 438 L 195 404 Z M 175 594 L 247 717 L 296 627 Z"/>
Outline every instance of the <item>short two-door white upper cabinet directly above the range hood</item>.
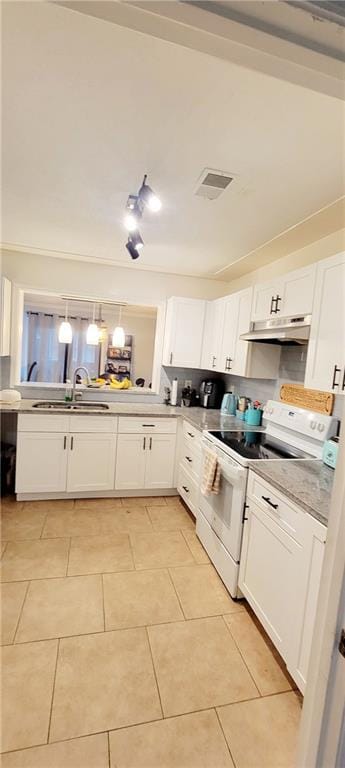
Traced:
<path fill-rule="evenodd" d="M 255 286 L 251 319 L 311 314 L 314 287 L 314 264 Z"/>

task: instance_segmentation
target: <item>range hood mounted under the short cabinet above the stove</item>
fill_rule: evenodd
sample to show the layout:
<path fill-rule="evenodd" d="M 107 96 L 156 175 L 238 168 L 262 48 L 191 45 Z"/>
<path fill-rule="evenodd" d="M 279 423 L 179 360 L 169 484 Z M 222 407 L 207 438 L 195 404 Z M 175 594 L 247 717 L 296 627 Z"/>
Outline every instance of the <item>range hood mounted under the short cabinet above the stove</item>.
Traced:
<path fill-rule="evenodd" d="M 311 315 L 259 320 L 251 323 L 249 333 L 243 333 L 240 339 L 262 344 L 308 344 L 310 323 Z"/>

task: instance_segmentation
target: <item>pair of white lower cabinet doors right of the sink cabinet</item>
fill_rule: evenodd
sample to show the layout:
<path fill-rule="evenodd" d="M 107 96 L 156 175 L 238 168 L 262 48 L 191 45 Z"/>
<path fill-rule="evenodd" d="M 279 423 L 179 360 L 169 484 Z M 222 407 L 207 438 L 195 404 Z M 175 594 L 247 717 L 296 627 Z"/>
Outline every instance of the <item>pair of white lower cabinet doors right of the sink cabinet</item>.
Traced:
<path fill-rule="evenodd" d="M 116 490 L 172 488 L 175 446 L 175 434 L 119 435 Z"/>

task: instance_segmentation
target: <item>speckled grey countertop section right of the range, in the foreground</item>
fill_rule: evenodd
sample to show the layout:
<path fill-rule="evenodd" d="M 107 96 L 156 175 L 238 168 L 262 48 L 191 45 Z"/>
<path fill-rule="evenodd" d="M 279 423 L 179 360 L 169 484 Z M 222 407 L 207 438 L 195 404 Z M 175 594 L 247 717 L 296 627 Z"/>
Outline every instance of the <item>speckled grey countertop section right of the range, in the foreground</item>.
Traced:
<path fill-rule="evenodd" d="M 250 464 L 250 469 L 320 523 L 328 525 L 334 470 L 322 461 L 258 461 Z"/>

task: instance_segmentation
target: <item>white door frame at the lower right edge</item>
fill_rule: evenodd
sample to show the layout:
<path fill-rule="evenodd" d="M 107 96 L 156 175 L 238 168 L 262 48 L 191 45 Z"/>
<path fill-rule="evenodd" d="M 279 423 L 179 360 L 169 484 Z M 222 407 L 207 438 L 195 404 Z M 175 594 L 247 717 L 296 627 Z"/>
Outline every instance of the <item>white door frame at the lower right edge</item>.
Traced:
<path fill-rule="evenodd" d="M 342 423 L 345 424 L 345 398 Z M 345 663 L 338 651 L 342 595 L 345 590 L 345 439 L 340 439 L 331 499 L 321 586 L 312 640 L 308 682 L 302 710 L 296 768 L 326 766 L 329 729 L 344 697 L 334 687 L 334 667 Z M 341 733 L 338 730 L 340 740 Z"/>

